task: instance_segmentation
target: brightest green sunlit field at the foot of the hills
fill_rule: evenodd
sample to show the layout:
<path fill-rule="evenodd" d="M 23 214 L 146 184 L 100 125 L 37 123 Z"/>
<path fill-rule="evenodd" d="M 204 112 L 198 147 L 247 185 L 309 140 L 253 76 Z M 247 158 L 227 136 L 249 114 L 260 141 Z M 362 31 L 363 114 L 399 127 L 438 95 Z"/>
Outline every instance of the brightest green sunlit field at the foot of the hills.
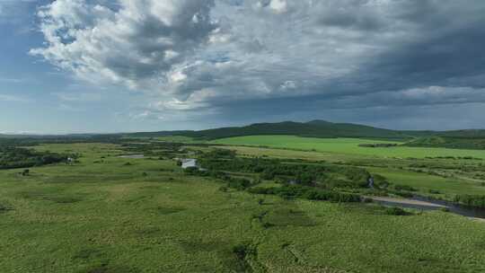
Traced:
<path fill-rule="evenodd" d="M 249 136 L 229 137 L 212 141 L 214 144 L 223 145 L 264 145 L 275 148 L 314 150 L 318 152 L 329 152 L 336 154 L 360 154 L 367 156 L 381 157 L 415 157 L 424 158 L 427 156 L 472 156 L 485 159 L 485 151 L 460 150 L 445 148 L 422 148 L 422 147 L 387 147 L 369 148 L 360 147 L 360 144 L 395 143 L 383 140 L 368 140 L 359 138 L 313 138 L 294 136 Z"/>

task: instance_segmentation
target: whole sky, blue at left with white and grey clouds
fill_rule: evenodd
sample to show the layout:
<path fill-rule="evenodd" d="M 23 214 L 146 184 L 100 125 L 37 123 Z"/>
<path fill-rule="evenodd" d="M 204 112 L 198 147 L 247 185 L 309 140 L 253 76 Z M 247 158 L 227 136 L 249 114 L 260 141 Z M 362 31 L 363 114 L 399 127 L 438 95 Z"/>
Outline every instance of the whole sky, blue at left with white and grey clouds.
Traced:
<path fill-rule="evenodd" d="M 485 128 L 483 0 L 0 0 L 0 133 Z"/>

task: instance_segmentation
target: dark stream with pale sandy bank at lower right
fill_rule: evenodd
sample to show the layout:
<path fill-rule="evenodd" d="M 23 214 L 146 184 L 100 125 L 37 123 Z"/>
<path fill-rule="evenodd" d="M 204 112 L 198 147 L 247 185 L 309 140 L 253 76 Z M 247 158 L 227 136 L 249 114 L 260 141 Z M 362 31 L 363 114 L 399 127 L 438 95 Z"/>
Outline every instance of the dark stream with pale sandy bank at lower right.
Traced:
<path fill-rule="evenodd" d="M 460 216 L 485 219 L 485 208 L 466 207 L 466 206 L 458 205 L 448 201 L 436 200 L 436 199 L 419 197 L 419 196 L 415 196 L 407 200 L 427 202 L 429 203 L 429 205 L 427 206 L 427 205 L 421 205 L 421 204 L 408 204 L 404 202 L 401 203 L 399 202 L 399 199 L 396 199 L 396 201 L 375 200 L 375 203 L 394 206 L 394 207 L 414 208 L 414 209 L 420 209 L 420 210 L 437 210 L 437 209 L 442 209 L 443 207 L 447 207 L 450 212 Z"/>

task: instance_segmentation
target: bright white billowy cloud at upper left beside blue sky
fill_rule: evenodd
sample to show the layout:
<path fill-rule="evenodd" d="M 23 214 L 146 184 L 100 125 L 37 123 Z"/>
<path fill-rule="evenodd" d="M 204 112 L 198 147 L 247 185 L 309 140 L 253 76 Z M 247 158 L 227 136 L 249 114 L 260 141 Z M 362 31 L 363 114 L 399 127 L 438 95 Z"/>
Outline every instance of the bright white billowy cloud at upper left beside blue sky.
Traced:
<path fill-rule="evenodd" d="M 31 54 L 91 81 L 154 88 L 216 29 L 212 0 L 57 0 L 39 11 L 47 47 Z"/>

